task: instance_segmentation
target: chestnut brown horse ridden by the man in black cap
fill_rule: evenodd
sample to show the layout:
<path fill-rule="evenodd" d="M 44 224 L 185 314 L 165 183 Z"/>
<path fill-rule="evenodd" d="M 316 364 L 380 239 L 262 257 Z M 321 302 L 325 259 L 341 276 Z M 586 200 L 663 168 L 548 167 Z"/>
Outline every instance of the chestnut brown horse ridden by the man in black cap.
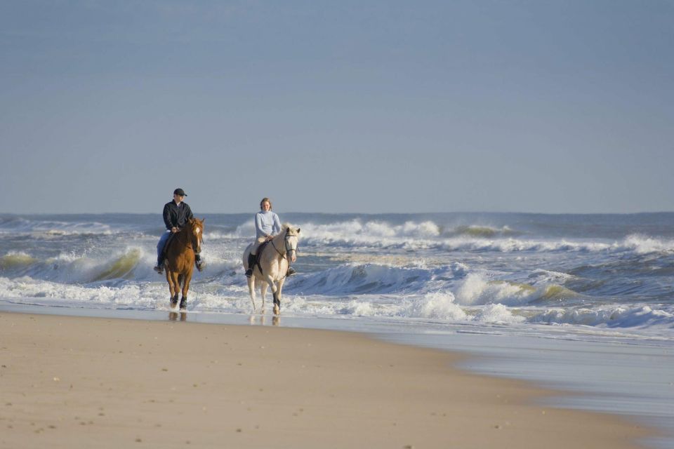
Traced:
<path fill-rule="evenodd" d="M 194 271 L 194 253 L 201 253 L 204 220 L 191 218 L 187 226 L 173 236 L 166 248 L 166 281 L 169 282 L 172 308 L 178 304 L 178 292 L 181 288 L 183 297 L 180 298 L 180 310 L 187 307 L 187 290 L 190 290 Z"/>

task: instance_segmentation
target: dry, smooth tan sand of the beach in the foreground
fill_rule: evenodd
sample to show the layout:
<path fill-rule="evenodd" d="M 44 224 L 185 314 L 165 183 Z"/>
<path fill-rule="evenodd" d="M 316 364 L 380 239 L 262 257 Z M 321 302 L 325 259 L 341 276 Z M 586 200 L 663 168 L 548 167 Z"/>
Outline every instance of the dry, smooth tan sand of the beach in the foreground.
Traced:
<path fill-rule="evenodd" d="M 619 417 L 364 335 L 0 314 L 0 448 L 636 448 Z"/>

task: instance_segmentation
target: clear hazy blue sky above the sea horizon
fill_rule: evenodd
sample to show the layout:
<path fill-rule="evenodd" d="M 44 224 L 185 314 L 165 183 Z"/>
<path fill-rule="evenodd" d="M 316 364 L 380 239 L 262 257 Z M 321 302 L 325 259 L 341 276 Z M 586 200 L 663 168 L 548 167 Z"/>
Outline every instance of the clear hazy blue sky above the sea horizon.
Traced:
<path fill-rule="evenodd" d="M 0 213 L 674 210 L 674 0 L 0 0 Z"/>

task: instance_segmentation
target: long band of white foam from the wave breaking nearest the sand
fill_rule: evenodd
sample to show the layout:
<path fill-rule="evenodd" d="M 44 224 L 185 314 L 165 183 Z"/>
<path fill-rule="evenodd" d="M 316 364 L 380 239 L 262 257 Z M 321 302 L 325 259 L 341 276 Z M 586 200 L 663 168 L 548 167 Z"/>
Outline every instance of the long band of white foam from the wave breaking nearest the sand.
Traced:
<path fill-rule="evenodd" d="M 477 281 L 471 281 L 471 284 Z M 128 309 L 167 309 L 165 283 L 117 283 L 110 285 L 64 284 L 24 276 L 16 279 L 0 277 L 0 289 L 15 302 L 55 305 L 59 307 L 105 307 Z M 517 296 L 517 293 L 515 293 Z M 258 293 L 257 304 L 261 305 Z M 267 307 L 271 293 L 267 293 Z M 194 281 L 188 297 L 192 311 L 216 311 L 248 314 L 252 311 L 247 287 L 230 284 L 213 288 L 205 281 Z M 674 306 L 656 309 L 644 305 L 601 305 L 594 307 L 520 307 L 498 302 L 460 304 L 451 291 L 421 295 L 358 295 L 341 298 L 284 294 L 282 310 L 298 316 L 345 316 L 406 320 L 430 319 L 446 323 L 498 323 L 506 325 L 545 323 L 593 328 L 661 329 L 674 328 Z"/>

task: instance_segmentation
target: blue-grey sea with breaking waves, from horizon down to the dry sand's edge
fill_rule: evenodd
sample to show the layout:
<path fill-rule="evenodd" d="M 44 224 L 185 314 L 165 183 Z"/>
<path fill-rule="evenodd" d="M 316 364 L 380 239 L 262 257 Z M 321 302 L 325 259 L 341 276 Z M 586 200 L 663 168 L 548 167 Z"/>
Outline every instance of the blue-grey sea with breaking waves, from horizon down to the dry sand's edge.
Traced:
<path fill-rule="evenodd" d="M 300 227 L 283 326 L 482 354 L 466 367 L 674 429 L 674 213 L 281 215 Z M 247 321 L 253 215 L 199 217 L 189 319 Z M 0 215 L 0 309 L 165 314 L 163 231 L 159 214 Z"/>

